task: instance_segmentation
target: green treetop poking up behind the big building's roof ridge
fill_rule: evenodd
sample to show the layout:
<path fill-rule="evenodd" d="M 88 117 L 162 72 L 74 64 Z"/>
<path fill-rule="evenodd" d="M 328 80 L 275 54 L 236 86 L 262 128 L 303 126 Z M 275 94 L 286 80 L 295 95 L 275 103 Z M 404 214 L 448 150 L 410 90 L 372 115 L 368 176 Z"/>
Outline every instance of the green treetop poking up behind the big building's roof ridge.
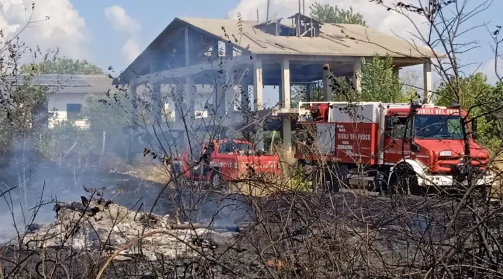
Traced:
<path fill-rule="evenodd" d="M 349 10 L 344 10 L 337 6 L 321 5 L 315 2 L 309 8 L 311 9 L 310 16 L 321 23 L 359 24 L 367 26 L 363 15 L 355 13 L 352 7 Z"/>

